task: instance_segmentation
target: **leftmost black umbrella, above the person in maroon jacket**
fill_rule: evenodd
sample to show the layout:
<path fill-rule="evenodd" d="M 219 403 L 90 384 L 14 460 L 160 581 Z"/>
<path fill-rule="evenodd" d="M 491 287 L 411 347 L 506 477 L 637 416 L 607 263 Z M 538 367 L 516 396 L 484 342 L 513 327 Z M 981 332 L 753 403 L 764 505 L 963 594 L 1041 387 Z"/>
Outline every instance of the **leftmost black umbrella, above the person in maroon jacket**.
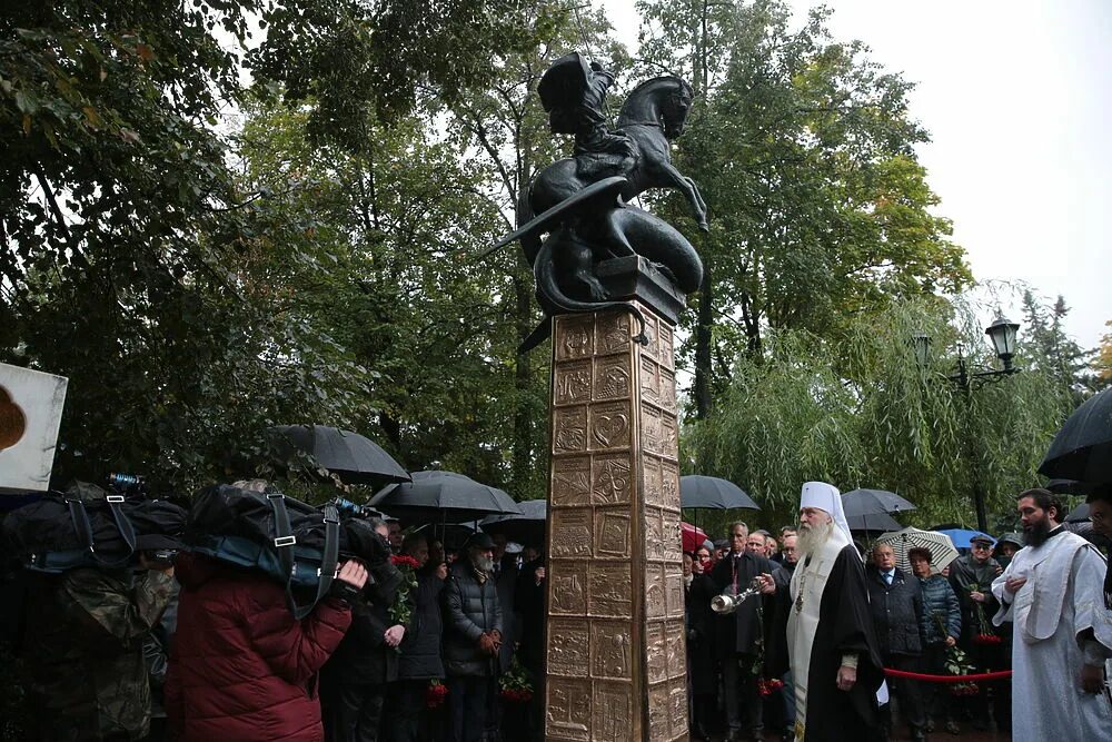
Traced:
<path fill-rule="evenodd" d="M 267 433 L 286 465 L 294 463 L 301 452 L 344 484 L 409 481 L 405 468 L 381 446 L 358 433 L 327 425 L 279 425 L 267 428 Z"/>

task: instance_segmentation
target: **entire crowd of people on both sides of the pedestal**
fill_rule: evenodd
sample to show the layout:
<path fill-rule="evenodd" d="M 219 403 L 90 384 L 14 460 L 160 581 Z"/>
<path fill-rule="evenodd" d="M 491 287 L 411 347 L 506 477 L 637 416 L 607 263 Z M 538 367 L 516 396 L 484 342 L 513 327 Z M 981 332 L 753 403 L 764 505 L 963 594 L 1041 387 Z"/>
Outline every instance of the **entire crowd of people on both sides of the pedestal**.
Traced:
<path fill-rule="evenodd" d="M 1112 495 L 1091 501 L 1109 535 Z M 737 522 L 685 553 L 692 739 L 884 740 L 897 722 L 913 740 L 992 723 L 1016 740 L 1106 734 L 1105 561 L 1062 527 L 1055 495 L 1017 508 L 1022 535 L 976 536 L 950 564 L 913 548 L 905 571 L 887 543 L 853 541 L 833 486 L 807 483 L 775 536 Z M 542 739 L 539 546 L 476 532 L 449 552 L 377 517 L 345 528 L 361 558 L 300 619 L 278 582 L 189 552 L 30 581 L 31 739 Z"/>

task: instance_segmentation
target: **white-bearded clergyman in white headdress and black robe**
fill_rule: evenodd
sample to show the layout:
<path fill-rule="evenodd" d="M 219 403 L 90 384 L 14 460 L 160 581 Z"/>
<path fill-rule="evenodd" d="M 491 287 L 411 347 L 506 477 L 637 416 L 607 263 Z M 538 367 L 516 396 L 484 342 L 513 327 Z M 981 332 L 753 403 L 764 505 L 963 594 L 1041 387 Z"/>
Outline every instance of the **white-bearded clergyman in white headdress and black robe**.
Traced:
<path fill-rule="evenodd" d="M 838 491 L 803 485 L 798 562 L 783 598 L 795 684 L 797 742 L 871 739 L 884 681 L 868 613 L 865 571 L 850 537 Z M 771 577 L 764 582 L 772 584 Z"/>

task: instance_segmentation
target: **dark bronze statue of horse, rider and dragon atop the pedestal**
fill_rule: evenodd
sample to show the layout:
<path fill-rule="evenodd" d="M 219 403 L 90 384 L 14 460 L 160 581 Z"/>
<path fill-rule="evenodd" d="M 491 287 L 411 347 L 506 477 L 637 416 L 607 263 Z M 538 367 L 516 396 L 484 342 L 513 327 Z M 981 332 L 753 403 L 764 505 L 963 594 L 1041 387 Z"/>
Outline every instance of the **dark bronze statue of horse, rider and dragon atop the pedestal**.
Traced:
<path fill-rule="evenodd" d="M 504 237 L 492 251 L 522 240 L 547 315 L 622 306 L 639 317 L 633 305 L 610 300 L 595 275 L 595 266 L 607 257 L 639 255 L 655 264 L 681 291 L 689 294 L 698 288 L 703 265 L 691 243 L 663 219 L 628 204 L 649 188 L 676 188 L 686 197 L 699 227 L 707 228 L 706 204 L 698 188 L 672 165 L 671 158 L 671 140 L 683 132 L 692 88 L 676 77 L 641 83 L 623 105 L 617 128 L 609 132 L 602 125 L 599 109 L 613 78 L 597 65 L 592 66 L 593 72 L 586 69 L 578 55 L 568 55 L 542 79 L 539 92 L 549 110 L 552 128 L 576 135 L 576 155 L 553 162 L 537 175 L 527 204 L 522 206 L 539 216 Z M 562 77 L 554 76 L 557 70 Z M 595 79 L 587 77 L 580 85 L 584 72 Z M 550 83 L 547 89 L 546 81 Z M 548 236 L 542 240 L 545 233 Z M 547 323 L 538 329 L 546 333 Z M 523 349 L 545 337 L 534 336 Z"/>

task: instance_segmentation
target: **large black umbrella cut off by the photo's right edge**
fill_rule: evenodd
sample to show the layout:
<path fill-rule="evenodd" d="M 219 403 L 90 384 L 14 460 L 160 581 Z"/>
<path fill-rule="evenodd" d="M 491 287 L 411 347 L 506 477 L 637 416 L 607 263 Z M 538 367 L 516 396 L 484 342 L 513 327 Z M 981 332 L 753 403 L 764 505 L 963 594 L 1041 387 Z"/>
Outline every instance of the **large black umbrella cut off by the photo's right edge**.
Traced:
<path fill-rule="evenodd" d="M 1112 389 L 1073 410 L 1050 444 L 1039 471 L 1078 482 L 1112 482 Z"/>

